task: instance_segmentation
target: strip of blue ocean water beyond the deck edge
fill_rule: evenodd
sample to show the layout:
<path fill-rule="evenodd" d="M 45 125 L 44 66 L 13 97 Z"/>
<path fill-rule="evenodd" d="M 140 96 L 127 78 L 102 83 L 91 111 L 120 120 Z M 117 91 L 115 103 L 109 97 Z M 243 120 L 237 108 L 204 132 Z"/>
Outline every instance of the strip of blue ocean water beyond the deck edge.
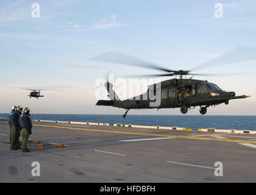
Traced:
<path fill-rule="evenodd" d="M 8 118 L 8 114 L 0 117 Z M 75 121 L 75 122 L 106 122 L 135 124 L 141 126 L 186 127 L 197 130 L 199 128 L 256 130 L 256 116 L 191 116 L 191 115 L 50 115 L 32 114 L 32 119 L 50 121 Z"/>

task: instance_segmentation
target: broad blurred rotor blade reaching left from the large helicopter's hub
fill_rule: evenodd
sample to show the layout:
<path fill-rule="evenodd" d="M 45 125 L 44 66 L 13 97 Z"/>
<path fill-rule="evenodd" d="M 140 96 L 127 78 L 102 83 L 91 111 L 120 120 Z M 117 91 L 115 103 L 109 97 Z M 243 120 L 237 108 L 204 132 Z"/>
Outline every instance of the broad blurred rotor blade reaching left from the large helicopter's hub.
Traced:
<path fill-rule="evenodd" d="M 143 68 L 157 69 L 160 71 L 165 71 L 167 73 L 174 72 L 172 69 L 163 68 L 155 63 L 147 62 L 145 60 L 137 59 L 127 54 L 121 52 L 107 52 L 105 54 L 98 55 L 91 59 L 92 61 L 107 62 L 107 63 L 117 63 L 129 66 L 138 66 Z"/>

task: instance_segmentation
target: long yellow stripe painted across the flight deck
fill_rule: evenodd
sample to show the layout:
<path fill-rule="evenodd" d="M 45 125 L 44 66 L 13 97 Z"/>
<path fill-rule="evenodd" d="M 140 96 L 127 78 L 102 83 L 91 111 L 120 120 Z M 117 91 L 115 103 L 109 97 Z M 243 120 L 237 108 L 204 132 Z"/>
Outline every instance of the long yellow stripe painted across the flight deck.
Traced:
<path fill-rule="evenodd" d="M 0 122 L 0 123 L 8 123 L 8 122 Z M 186 138 L 186 139 L 194 139 L 194 140 L 215 140 L 215 141 L 229 141 L 236 143 L 254 143 L 256 141 L 246 141 L 246 140 L 228 140 L 228 139 L 217 139 L 217 138 L 198 138 L 198 137 L 187 137 L 187 136 L 179 136 L 179 135 L 162 135 L 162 134 L 151 134 L 151 133 L 131 133 L 131 132 L 119 132 L 115 130 L 98 130 L 98 129 L 82 129 L 82 128 L 74 128 L 74 127 L 62 127 L 62 126 L 46 126 L 41 124 L 34 124 L 34 126 L 40 127 L 53 127 L 57 129 L 73 129 L 73 130 L 86 130 L 90 132 L 107 132 L 107 133 L 122 133 L 127 135 L 148 135 L 154 137 L 172 137 L 172 138 Z"/>

